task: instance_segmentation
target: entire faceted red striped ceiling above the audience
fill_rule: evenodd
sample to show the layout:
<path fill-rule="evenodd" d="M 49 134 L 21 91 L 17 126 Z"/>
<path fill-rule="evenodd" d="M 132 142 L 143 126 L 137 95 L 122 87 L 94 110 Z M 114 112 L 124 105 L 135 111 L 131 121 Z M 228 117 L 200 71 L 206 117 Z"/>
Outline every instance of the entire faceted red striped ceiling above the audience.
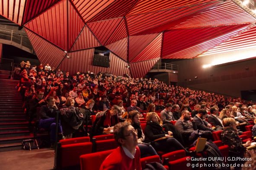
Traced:
<path fill-rule="evenodd" d="M 83 63 L 90 58 L 90 49 L 105 46 L 112 58 L 131 65 L 124 70 L 125 64 L 117 64 L 117 70 L 142 76 L 145 71 L 137 68 L 140 62 L 150 63 L 148 70 L 159 58 L 186 59 L 254 48 L 256 18 L 235 1 L 8 0 L 0 1 L 0 15 L 25 27 L 34 35 L 29 36 L 31 41 L 35 36 L 44 41 L 45 50 L 51 44 Z M 44 55 L 40 52 L 40 61 L 48 57 Z M 65 61 L 58 60 L 57 65 L 66 67 Z"/>

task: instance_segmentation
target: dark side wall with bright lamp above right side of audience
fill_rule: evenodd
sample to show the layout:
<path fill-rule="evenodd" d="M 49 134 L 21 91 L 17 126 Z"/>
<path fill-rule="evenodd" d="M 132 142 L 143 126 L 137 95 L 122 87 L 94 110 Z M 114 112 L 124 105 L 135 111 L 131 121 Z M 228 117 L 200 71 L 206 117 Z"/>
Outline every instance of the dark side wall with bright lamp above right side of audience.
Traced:
<path fill-rule="evenodd" d="M 256 59 L 202 68 L 209 60 L 212 58 L 201 57 L 172 62 L 179 65 L 178 85 L 234 97 L 240 97 L 240 91 L 255 89 Z"/>

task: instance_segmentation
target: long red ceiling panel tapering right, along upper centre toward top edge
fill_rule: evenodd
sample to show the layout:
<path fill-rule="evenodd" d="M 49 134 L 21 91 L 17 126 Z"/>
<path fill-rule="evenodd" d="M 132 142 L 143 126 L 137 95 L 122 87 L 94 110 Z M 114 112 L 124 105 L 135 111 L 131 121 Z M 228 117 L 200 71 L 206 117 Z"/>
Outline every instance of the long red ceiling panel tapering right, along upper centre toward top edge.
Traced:
<path fill-rule="evenodd" d="M 184 19 L 194 16 L 196 12 L 200 12 L 201 10 L 209 8 L 214 4 L 216 4 L 216 2 L 163 10 L 154 13 L 127 16 L 126 19 L 129 35 L 136 35 L 138 33 L 149 34 L 164 31 L 173 25 L 179 24 L 179 22 L 184 21 Z M 178 19 L 182 20 L 178 22 Z"/>

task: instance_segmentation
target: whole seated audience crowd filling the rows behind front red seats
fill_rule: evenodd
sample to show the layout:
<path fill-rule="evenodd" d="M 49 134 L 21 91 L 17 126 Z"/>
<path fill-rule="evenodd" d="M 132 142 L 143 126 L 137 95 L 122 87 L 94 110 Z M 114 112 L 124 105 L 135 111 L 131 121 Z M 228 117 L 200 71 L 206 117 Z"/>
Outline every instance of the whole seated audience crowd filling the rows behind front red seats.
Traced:
<path fill-rule="evenodd" d="M 142 157 L 180 149 L 190 154 L 187 149 L 199 136 L 211 141 L 215 130 L 223 130 L 223 143 L 235 150 L 228 132 L 231 129 L 239 134 L 244 126 L 237 129 L 228 122 L 232 119 L 235 124 L 249 125 L 256 114 L 256 105 L 241 98 L 175 87 L 157 79 L 95 76 L 90 71 L 70 76 L 49 64 L 34 69 L 22 67 L 19 79 L 29 122 L 37 120 L 39 128 L 50 130 L 52 143 L 57 140 L 55 126 L 59 139 L 72 138 L 77 131 L 84 130 L 85 124 L 87 128 L 92 123 L 90 117 L 95 115 L 90 132 L 86 129 L 83 135 L 101 135 L 113 131 L 119 122 L 129 123 L 131 127 L 125 126 L 132 131 L 123 138 L 135 134 Z M 58 125 L 56 110 L 61 111 Z M 143 132 L 139 120 L 144 114 L 147 123 Z M 237 147 L 250 145 L 235 142 L 240 142 Z"/>

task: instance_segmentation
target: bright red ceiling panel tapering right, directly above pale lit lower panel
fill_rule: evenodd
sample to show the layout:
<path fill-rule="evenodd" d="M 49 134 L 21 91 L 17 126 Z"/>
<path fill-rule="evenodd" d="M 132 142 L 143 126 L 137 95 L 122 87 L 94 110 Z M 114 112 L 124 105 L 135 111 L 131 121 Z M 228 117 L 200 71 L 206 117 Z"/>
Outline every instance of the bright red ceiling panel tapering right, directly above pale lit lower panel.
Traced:
<path fill-rule="evenodd" d="M 166 31 L 163 35 L 162 58 L 170 58 L 173 53 L 209 41 L 221 35 L 245 27 L 247 24 L 209 28 L 179 29 Z M 184 55 L 184 58 L 186 55 Z"/>

